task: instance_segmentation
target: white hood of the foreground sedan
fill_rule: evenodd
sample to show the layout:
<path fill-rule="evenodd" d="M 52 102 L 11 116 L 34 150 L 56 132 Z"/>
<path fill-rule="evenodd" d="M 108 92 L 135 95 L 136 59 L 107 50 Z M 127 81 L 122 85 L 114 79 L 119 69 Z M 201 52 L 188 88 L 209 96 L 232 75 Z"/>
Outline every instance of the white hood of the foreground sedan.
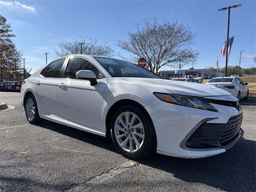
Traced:
<path fill-rule="evenodd" d="M 223 96 L 230 95 L 230 93 L 204 84 L 183 82 L 183 81 L 171 81 L 165 79 L 150 79 L 150 78 L 123 78 L 130 82 L 136 82 L 139 84 L 162 87 L 173 94 L 188 95 L 188 96 Z"/>

